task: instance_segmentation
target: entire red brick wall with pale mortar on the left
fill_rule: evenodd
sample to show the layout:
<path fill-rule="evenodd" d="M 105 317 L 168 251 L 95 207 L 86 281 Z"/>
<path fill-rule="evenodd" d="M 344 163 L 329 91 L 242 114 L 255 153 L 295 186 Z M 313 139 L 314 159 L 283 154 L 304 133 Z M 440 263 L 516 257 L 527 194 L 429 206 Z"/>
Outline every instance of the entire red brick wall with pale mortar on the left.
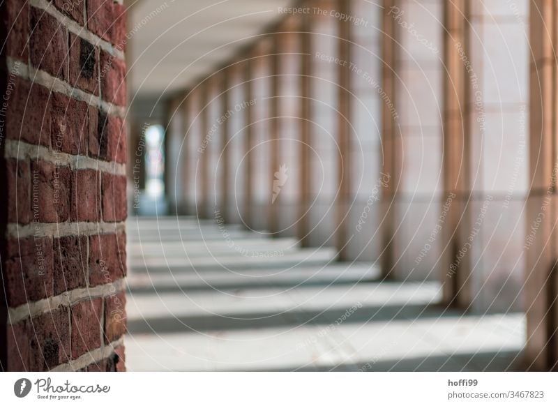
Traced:
<path fill-rule="evenodd" d="M 124 7 L 0 8 L 0 370 L 124 370 Z"/>

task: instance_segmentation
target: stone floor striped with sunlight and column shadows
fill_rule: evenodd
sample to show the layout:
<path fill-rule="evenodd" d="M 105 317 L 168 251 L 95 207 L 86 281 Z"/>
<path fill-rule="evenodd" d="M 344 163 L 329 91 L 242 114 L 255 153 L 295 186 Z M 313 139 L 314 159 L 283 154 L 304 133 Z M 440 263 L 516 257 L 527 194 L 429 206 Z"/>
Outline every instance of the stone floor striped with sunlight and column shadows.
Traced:
<path fill-rule="evenodd" d="M 128 370 L 517 370 L 525 317 L 439 306 L 435 282 L 380 282 L 239 225 L 128 221 Z"/>

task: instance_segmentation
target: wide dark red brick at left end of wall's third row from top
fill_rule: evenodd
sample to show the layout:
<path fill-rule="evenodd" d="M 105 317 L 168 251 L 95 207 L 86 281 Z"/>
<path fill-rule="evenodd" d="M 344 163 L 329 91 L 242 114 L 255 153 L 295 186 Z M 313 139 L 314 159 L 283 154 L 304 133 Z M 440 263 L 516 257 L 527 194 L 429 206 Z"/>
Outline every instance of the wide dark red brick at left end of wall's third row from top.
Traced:
<path fill-rule="evenodd" d="M 46 87 L 15 78 L 8 100 L 6 137 L 50 146 L 50 93 Z"/>

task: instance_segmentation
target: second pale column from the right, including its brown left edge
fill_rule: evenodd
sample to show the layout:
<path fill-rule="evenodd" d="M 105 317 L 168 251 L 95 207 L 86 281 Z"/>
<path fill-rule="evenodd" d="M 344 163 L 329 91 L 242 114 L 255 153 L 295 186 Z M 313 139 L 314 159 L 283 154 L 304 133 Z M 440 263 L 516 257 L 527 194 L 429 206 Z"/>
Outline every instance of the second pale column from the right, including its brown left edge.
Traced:
<path fill-rule="evenodd" d="M 442 239 L 442 0 L 398 0 L 386 8 L 386 29 L 395 35 L 390 63 L 393 100 L 384 99 L 391 160 L 384 271 L 402 280 L 439 277 Z M 393 45 L 393 40 L 386 40 Z M 388 68 L 389 69 L 389 68 Z M 390 172 L 391 171 L 391 172 Z M 393 239 L 391 239 L 393 238 Z"/>

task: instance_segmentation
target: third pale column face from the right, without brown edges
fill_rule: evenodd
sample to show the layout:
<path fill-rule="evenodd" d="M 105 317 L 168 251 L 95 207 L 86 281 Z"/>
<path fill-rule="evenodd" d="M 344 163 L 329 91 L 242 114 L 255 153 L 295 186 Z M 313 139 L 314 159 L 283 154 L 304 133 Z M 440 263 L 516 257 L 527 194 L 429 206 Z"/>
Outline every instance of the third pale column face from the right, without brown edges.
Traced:
<path fill-rule="evenodd" d="M 379 221 L 382 219 L 382 189 L 389 176 L 382 172 L 382 15 L 381 3 L 352 1 L 355 17 L 351 33 L 350 119 L 349 140 L 351 167 L 351 205 L 349 227 L 351 241 L 347 247 L 349 260 L 375 262 L 382 246 Z"/>

